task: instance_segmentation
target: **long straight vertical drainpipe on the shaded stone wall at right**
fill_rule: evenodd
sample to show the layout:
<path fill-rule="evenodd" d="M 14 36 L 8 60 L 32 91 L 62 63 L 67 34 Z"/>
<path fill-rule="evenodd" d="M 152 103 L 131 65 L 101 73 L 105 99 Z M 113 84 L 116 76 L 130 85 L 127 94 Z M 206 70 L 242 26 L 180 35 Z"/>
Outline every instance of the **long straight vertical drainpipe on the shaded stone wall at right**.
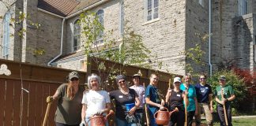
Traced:
<path fill-rule="evenodd" d="M 209 44 L 209 53 L 208 53 L 208 64 L 209 64 L 209 75 L 213 75 L 213 65 L 211 63 L 211 28 L 212 28 L 212 3 L 211 0 L 209 0 L 209 39 L 208 39 L 208 44 Z"/>

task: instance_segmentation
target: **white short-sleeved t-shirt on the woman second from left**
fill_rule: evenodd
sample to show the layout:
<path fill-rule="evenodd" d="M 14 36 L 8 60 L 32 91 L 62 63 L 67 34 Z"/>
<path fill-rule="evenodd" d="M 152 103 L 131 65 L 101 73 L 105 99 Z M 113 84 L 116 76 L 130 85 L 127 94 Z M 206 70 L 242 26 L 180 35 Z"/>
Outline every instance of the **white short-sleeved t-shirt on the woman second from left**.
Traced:
<path fill-rule="evenodd" d="M 82 104 L 87 105 L 86 117 L 92 117 L 94 114 L 100 111 L 100 109 L 106 108 L 106 103 L 110 103 L 109 95 L 107 91 L 86 91 L 83 95 Z"/>

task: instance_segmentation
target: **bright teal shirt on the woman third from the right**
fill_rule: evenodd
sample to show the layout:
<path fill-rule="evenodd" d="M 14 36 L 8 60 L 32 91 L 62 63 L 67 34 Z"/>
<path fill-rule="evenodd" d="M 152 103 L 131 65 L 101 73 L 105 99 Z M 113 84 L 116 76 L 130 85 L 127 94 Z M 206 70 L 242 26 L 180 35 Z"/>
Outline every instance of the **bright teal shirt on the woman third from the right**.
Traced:
<path fill-rule="evenodd" d="M 182 83 L 182 84 L 180 85 L 180 89 L 181 89 L 182 91 L 186 91 L 186 87 L 184 86 L 184 83 Z M 197 97 L 196 91 L 195 91 L 195 89 L 194 89 L 194 86 L 190 84 L 189 87 L 188 87 L 188 91 L 187 91 L 187 92 L 188 92 L 187 98 L 188 98 L 190 104 L 189 104 L 189 106 L 186 107 L 186 110 L 187 110 L 188 112 L 189 112 L 189 111 L 194 111 L 194 110 L 196 109 L 194 98 Z M 184 105 L 185 105 L 185 104 L 184 104 Z"/>

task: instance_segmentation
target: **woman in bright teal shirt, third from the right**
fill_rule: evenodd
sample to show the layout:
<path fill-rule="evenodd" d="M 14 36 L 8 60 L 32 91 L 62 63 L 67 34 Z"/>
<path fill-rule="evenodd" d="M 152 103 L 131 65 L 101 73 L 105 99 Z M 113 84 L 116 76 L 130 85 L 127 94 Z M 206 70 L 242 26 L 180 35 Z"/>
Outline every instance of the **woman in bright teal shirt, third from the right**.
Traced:
<path fill-rule="evenodd" d="M 192 77 L 190 74 L 186 74 L 186 76 L 184 76 L 184 83 L 180 85 L 180 89 L 186 92 L 185 94 L 187 94 L 187 98 L 190 102 L 190 104 L 186 106 L 186 117 L 188 126 L 192 125 L 193 117 L 198 114 L 198 100 L 196 90 L 191 84 L 191 78 Z"/>

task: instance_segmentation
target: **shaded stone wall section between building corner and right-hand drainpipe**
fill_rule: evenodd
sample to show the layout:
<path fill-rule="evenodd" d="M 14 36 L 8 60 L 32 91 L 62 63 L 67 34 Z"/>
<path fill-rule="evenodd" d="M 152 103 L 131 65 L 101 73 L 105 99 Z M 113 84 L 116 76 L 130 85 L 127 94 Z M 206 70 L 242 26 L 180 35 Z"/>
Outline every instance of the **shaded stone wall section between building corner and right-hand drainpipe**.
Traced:
<path fill-rule="evenodd" d="M 186 1 L 186 50 L 194 48 L 196 44 L 201 45 L 201 50 L 205 51 L 201 61 L 205 65 L 197 65 L 190 59 L 186 60 L 186 64 L 193 65 L 194 72 L 209 72 L 208 65 L 208 38 L 209 35 L 209 13 L 208 2 L 204 1 L 202 5 L 198 0 Z"/>

